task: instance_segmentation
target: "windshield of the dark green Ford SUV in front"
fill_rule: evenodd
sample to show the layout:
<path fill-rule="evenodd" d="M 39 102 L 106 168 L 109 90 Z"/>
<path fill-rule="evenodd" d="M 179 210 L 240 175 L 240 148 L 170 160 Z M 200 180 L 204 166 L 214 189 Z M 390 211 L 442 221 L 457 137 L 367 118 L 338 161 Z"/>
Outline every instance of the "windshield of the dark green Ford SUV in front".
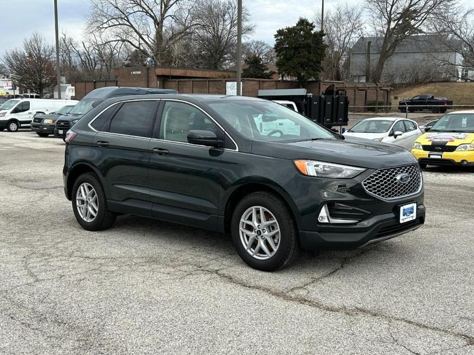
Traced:
<path fill-rule="evenodd" d="M 207 103 L 245 138 L 267 142 L 336 139 L 336 135 L 294 110 L 267 101 Z"/>

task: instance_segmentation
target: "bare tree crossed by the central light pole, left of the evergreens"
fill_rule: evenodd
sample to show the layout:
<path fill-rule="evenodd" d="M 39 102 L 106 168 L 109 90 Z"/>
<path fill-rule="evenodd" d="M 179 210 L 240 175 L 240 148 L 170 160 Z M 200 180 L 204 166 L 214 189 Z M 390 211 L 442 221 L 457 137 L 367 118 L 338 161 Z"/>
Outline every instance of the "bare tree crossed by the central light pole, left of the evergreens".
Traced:
<path fill-rule="evenodd" d="M 192 41 L 206 68 L 222 69 L 235 62 L 237 45 L 237 1 L 199 0 L 193 10 L 195 27 Z M 254 26 L 250 14 L 242 11 L 242 35 L 250 34 Z"/>

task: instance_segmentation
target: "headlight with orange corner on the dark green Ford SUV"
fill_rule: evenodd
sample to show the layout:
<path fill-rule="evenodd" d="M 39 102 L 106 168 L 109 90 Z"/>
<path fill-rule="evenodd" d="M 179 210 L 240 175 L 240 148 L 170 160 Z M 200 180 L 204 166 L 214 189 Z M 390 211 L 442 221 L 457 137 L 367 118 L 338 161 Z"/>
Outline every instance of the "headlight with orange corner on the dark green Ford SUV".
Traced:
<path fill-rule="evenodd" d="M 350 179 L 366 170 L 355 166 L 314 160 L 295 160 L 295 165 L 303 175 L 318 176 L 319 178 Z"/>

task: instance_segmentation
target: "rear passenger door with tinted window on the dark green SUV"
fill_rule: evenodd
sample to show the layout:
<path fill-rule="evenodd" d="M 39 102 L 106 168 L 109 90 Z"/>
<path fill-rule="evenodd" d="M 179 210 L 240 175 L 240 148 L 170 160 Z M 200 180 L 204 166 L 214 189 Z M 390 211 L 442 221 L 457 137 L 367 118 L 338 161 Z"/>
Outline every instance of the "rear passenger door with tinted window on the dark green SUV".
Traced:
<path fill-rule="evenodd" d="M 104 176 L 109 207 L 151 216 L 148 150 L 159 100 L 131 100 L 106 110 L 91 126 L 95 163 Z"/>

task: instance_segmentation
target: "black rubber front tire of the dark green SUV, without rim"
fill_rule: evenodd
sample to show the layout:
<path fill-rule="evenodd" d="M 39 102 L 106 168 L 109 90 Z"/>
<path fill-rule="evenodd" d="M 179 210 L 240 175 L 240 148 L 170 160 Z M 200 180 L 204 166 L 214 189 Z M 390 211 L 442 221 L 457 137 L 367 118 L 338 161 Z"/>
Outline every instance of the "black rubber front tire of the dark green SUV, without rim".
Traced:
<path fill-rule="evenodd" d="M 240 219 L 246 210 L 261 206 L 269 210 L 280 227 L 279 246 L 269 259 L 259 260 L 250 255 L 240 240 Z M 292 212 L 277 196 L 269 192 L 254 192 L 245 196 L 234 209 L 231 221 L 231 234 L 237 253 L 250 267 L 261 271 L 274 271 L 290 265 L 298 257 L 300 246 L 298 231 Z"/>

